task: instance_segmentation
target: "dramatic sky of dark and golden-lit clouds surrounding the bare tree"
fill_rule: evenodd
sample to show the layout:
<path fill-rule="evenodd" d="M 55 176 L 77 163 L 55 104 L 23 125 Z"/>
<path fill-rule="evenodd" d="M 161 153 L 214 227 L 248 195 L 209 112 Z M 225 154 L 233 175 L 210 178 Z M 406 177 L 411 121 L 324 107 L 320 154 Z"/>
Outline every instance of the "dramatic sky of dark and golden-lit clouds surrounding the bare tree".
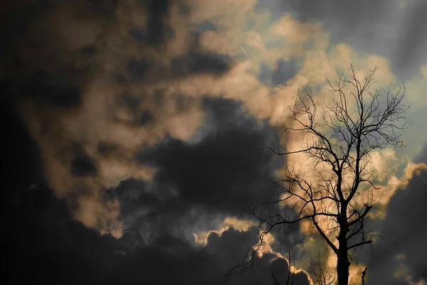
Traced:
<path fill-rule="evenodd" d="M 248 208 L 300 158 L 283 117 L 350 63 L 404 83 L 404 147 L 372 154 L 384 239 L 350 284 L 427 283 L 427 1 L 16 0 L 1 4 L 7 284 L 313 284 L 334 257 L 310 225 L 258 239 Z M 280 210 L 267 205 L 269 210 Z M 270 207 L 270 208 L 269 208 Z M 283 210 L 283 209 L 282 209 Z M 295 215 L 290 211 L 290 216 Z M 289 262 L 288 252 L 291 252 Z M 294 260 L 295 259 L 295 260 Z"/>

